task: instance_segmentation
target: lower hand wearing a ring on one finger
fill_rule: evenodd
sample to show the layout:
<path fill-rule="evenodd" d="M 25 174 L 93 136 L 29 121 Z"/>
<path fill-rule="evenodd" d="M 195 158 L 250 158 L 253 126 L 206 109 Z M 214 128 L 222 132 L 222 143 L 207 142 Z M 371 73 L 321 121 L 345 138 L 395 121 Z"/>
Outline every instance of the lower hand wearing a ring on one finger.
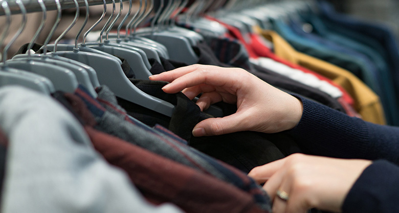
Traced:
<path fill-rule="evenodd" d="M 304 213 L 311 208 L 341 212 L 354 182 L 371 164 L 368 160 L 343 160 L 294 154 L 252 169 L 248 174 L 273 199 L 274 213 Z M 284 201 L 277 191 L 289 197 Z"/>

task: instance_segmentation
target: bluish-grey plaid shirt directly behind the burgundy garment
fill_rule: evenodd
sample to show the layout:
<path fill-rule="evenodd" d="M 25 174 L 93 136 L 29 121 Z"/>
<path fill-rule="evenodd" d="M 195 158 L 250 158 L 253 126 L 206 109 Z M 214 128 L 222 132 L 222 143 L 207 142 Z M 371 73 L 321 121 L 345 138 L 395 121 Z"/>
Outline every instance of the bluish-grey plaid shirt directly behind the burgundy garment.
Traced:
<path fill-rule="evenodd" d="M 105 93 L 106 95 L 104 95 Z M 97 101 L 91 97 L 83 87 L 80 87 L 76 91 L 76 95 L 87 105 L 87 109 L 92 113 L 94 112 L 93 114 L 100 115 L 95 116 L 98 122 L 95 126 L 96 129 L 143 147 L 148 151 L 169 158 L 175 162 L 194 168 L 198 172 L 209 174 L 217 179 L 226 181 L 250 193 L 261 209 L 270 209 L 270 200 L 261 187 L 237 169 L 223 162 L 216 161 L 196 151 L 194 148 L 187 146 L 187 142 L 171 134 L 169 131 L 166 131 L 161 126 L 157 126 L 154 129 L 149 129 L 148 127 L 143 128 L 137 125 L 137 123 L 123 119 L 122 117 L 125 117 L 123 113 L 105 111 L 105 108 L 100 102 L 104 103 L 110 101 L 107 104 L 107 106 L 110 106 L 113 105 L 112 102 L 115 101 L 115 97 L 112 97 L 110 91 L 107 91 L 106 87 L 102 87 L 99 93 L 99 98 L 102 98 L 102 101 Z M 114 105 L 113 108 L 119 107 Z M 98 113 L 100 111 L 103 113 Z"/>

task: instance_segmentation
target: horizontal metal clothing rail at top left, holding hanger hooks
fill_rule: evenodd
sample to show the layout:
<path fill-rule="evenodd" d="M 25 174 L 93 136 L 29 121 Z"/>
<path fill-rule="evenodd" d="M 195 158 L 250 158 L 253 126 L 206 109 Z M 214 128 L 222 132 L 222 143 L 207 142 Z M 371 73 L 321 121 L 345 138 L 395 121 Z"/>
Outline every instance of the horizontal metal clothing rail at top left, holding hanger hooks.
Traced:
<path fill-rule="evenodd" d="M 80 7 L 84 7 L 84 0 L 77 0 L 79 3 Z M 105 0 L 107 4 L 112 3 L 112 0 Z M 127 0 L 121 0 L 123 2 L 127 2 Z M 26 10 L 28 13 L 31 12 L 40 12 L 41 8 L 37 0 L 22 0 L 24 3 L 24 6 L 26 7 Z M 47 10 L 57 10 L 57 6 L 54 0 L 43 0 L 43 2 L 46 4 Z M 75 8 L 75 3 L 72 0 L 60 0 L 59 1 L 61 4 L 62 9 L 70 9 L 70 8 Z M 87 0 L 88 5 L 93 6 L 93 5 L 102 5 L 104 2 L 102 0 Z M 118 1 L 119 2 L 119 1 Z M 18 5 L 16 4 L 15 1 L 7 1 L 8 5 L 10 6 L 10 10 L 12 14 L 19 14 L 21 13 L 19 10 Z M 0 9 L 0 15 L 5 15 L 4 10 Z"/>

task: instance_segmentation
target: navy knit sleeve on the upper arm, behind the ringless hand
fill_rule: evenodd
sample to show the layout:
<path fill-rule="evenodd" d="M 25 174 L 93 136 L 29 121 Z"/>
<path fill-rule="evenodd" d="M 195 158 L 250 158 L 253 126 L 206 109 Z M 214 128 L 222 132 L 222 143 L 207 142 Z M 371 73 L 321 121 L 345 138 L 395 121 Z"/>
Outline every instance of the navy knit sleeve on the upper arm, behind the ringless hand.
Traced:
<path fill-rule="evenodd" d="M 296 139 L 306 154 L 385 159 L 399 164 L 399 127 L 369 123 L 306 98 L 296 97 L 303 103 L 302 118 L 287 133 Z"/>

